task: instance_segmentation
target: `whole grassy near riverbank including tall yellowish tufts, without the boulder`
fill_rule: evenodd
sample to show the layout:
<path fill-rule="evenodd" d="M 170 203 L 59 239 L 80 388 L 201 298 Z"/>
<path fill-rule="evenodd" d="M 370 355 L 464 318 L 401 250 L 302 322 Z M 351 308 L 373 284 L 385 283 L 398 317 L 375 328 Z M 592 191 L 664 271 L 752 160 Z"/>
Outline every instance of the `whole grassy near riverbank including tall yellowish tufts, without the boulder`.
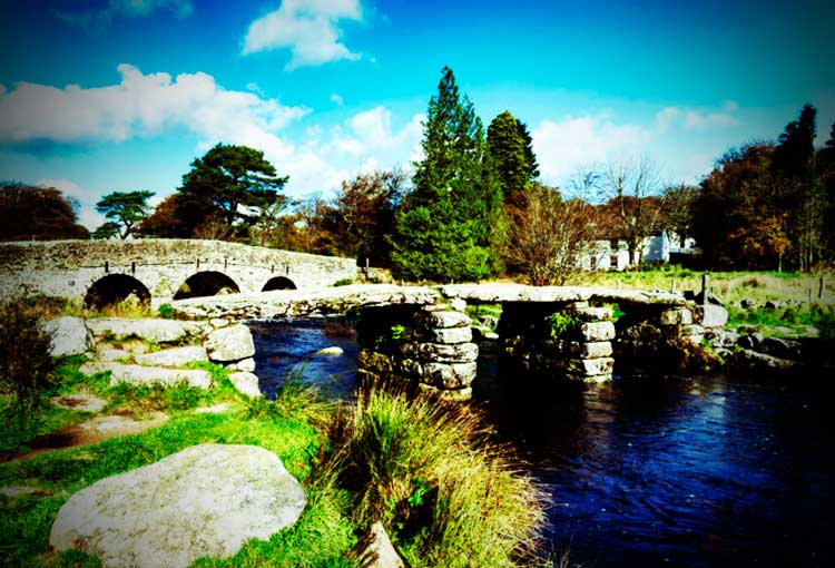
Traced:
<path fill-rule="evenodd" d="M 308 505 L 293 527 L 199 566 L 357 566 L 350 552 L 374 521 L 414 567 L 543 562 L 541 494 L 477 413 L 383 391 L 353 404 L 326 402 L 299 376 L 285 381 L 274 401 L 249 398 L 229 382 L 229 370 L 213 363 L 193 365 L 210 375 L 208 390 L 111 385 L 109 373 L 79 371 L 86 359 L 61 360 L 41 393 L 53 403 L 0 439 L 3 565 L 98 566 L 84 552 L 49 548 L 63 503 L 96 481 L 205 443 L 273 452 L 301 481 Z M 101 404 L 55 404 L 78 394 Z M 126 420 L 131 425 L 115 438 L 73 434 Z M 183 521 L 190 522 L 185 513 Z"/>

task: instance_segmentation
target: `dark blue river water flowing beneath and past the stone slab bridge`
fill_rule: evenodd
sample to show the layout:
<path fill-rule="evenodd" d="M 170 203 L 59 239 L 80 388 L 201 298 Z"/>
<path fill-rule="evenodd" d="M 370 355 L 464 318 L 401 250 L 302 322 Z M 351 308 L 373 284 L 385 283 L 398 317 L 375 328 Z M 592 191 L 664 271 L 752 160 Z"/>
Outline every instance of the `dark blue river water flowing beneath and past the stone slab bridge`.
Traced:
<path fill-rule="evenodd" d="M 351 396 L 356 344 L 322 320 L 253 324 L 262 388 L 292 369 Z M 338 345 L 342 356 L 314 355 Z M 548 538 L 584 567 L 835 566 L 835 399 L 825 378 L 616 380 L 503 373 L 474 399 L 550 493 Z"/>

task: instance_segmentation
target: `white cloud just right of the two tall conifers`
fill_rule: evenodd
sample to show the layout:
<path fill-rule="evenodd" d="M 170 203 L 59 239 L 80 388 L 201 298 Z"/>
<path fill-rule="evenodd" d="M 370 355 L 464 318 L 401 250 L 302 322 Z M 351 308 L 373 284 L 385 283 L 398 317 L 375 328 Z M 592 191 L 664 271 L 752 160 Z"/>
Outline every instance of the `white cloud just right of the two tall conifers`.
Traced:
<path fill-rule="evenodd" d="M 607 114 L 546 119 L 531 130 L 542 179 L 550 184 L 563 184 L 582 166 L 640 154 L 654 136 L 638 125 L 615 124 Z"/>

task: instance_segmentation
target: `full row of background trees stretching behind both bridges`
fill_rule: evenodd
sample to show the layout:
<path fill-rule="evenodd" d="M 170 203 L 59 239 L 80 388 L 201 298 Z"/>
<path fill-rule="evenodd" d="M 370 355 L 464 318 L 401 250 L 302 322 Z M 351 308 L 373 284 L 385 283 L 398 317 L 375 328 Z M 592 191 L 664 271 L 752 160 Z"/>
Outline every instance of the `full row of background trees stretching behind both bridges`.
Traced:
<path fill-rule="evenodd" d="M 695 237 L 707 267 L 808 271 L 835 261 L 835 125 L 823 148 L 815 137 L 806 105 L 776 141 L 728 150 L 699 186 L 664 184 L 640 160 L 589 166 L 549 187 L 524 123 L 505 110 L 485 130 L 444 68 L 411 178 L 375 172 L 343 182 L 333 198 L 293 200 L 262 151 L 218 144 L 153 210 L 151 192 L 105 196 L 97 210 L 107 222 L 92 237 L 226 239 L 355 257 L 412 281 L 549 284 L 576 272 L 596 242 L 623 243 L 640 264 L 646 238 L 667 231 Z M 0 238 L 87 237 L 56 189 L 6 185 L 0 197 Z"/>

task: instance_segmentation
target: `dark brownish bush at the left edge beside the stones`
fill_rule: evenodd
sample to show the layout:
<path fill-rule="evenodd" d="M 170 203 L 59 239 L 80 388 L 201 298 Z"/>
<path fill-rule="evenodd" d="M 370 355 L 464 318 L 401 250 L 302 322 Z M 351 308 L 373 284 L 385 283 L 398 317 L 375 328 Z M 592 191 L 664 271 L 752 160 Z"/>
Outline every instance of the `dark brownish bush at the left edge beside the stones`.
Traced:
<path fill-rule="evenodd" d="M 0 305 L 0 394 L 12 414 L 26 423 L 52 386 L 52 335 L 20 298 Z"/>

